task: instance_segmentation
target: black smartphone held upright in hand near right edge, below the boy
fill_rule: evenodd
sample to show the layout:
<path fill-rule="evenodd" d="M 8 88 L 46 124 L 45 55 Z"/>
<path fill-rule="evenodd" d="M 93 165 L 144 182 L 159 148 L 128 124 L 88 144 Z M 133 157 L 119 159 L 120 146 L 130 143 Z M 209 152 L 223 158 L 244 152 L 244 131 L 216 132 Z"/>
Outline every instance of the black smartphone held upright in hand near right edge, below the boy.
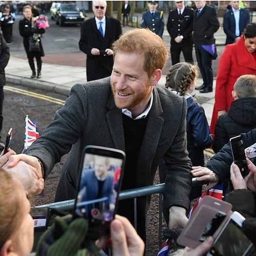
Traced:
<path fill-rule="evenodd" d="M 243 139 L 242 136 L 236 136 L 233 138 L 230 138 L 230 146 L 233 156 L 233 161 L 235 164 L 238 165 L 240 172 L 243 177 L 249 174 L 249 169 L 246 162 L 246 157 L 244 153 L 244 145 L 243 145 Z"/>

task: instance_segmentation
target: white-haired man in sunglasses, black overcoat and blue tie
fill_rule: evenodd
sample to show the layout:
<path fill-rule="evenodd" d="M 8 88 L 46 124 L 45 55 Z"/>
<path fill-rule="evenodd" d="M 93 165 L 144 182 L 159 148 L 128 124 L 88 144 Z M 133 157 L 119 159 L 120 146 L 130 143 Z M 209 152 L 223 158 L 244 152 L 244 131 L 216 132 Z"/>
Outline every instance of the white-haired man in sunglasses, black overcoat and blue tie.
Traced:
<path fill-rule="evenodd" d="M 93 1 L 94 18 L 81 26 L 79 49 L 87 54 L 87 81 L 111 75 L 113 68 L 112 43 L 122 34 L 121 23 L 105 16 L 106 1 Z"/>

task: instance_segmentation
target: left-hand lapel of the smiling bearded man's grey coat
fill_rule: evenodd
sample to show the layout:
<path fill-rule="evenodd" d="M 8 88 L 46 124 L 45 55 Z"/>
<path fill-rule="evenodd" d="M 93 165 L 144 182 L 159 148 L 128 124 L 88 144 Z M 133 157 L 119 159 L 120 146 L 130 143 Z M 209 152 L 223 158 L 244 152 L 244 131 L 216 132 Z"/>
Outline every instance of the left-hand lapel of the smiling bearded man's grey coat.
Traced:
<path fill-rule="evenodd" d="M 112 91 L 110 92 L 106 106 L 109 109 L 109 111 L 106 112 L 106 120 L 109 124 L 114 146 L 115 148 L 125 151 L 122 111 L 116 107 Z"/>

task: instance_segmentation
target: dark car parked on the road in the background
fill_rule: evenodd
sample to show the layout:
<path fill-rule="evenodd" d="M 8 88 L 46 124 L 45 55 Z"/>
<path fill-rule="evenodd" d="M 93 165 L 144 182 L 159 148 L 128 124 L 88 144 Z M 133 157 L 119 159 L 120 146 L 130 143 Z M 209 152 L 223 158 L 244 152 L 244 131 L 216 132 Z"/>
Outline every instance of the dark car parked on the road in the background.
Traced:
<path fill-rule="evenodd" d="M 59 26 L 65 24 L 82 24 L 83 13 L 75 4 L 60 4 L 56 11 L 55 22 Z"/>

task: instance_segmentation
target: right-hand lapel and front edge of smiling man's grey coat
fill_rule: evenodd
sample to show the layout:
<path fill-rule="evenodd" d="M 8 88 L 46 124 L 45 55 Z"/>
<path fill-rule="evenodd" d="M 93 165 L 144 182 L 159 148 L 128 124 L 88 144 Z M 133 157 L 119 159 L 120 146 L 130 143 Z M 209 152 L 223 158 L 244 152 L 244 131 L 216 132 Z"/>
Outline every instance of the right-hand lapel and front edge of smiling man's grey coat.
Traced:
<path fill-rule="evenodd" d="M 153 105 L 148 114 L 146 131 L 142 141 L 136 172 L 136 186 L 145 186 L 151 177 L 148 170 L 151 170 L 152 161 L 155 157 L 157 146 L 159 143 L 164 119 L 159 94 L 157 89 L 153 91 Z"/>

